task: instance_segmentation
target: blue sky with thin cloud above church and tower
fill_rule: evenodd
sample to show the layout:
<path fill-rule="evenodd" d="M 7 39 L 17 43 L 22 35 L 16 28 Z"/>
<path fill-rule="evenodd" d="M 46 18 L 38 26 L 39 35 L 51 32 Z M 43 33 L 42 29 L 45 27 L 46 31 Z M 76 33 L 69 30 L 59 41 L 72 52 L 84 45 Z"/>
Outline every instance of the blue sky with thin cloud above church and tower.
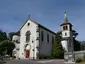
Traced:
<path fill-rule="evenodd" d="M 77 39 L 85 40 L 85 0 L 0 0 L 0 29 L 16 32 L 30 14 L 31 19 L 57 32 L 64 12 L 79 33 Z"/>

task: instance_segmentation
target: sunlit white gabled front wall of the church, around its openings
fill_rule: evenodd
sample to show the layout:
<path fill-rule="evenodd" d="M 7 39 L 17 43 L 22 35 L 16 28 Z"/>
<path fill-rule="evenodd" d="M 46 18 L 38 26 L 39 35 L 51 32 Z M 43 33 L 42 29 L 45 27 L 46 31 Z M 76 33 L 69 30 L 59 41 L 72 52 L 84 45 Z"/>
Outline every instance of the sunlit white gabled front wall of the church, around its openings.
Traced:
<path fill-rule="evenodd" d="M 30 23 L 30 25 L 28 26 L 28 23 Z M 36 26 L 37 24 L 31 22 L 31 20 L 28 20 L 27 23 L 22 27 L 21 31 L 20 31 L 20 58 L 25 58 L 26 57 L 26 53 L 24 51 L 24 46 L 26 43 L 26 32 L 30 31 L 31 35 L 30 35 L 30 41 L 28 43 L 30 43 L 31 45 L 31 49 L 30 49 L 30 59 L 33 58 L 33 56 L 36 58 L 36 49 L 34 49 L 36 47 Z M 34 43 L 32 43 L 32 40 L 34 41 Z M 33 53 L 33 49 L 35 50 Z"/>

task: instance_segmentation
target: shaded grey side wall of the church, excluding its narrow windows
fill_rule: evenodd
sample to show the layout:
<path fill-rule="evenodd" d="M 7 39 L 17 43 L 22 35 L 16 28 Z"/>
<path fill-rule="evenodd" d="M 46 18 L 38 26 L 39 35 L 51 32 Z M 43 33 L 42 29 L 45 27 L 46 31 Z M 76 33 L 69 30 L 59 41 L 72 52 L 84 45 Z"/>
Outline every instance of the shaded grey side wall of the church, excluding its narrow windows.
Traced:
<path fill-rule="evenodd" d="M 44 34 L 44 41 L 41 41 L 41 31 L 43 31 Z M 49 34 L 49 43 L 47 42 L 47 34 Z M 55 39 L 55 35 L 51 32 L 49 32 L 48 30 L 44 29 L 44 28 L 40 28 L 40 55 L 44 55 L 44 56 L 50 56 L 52 53 L 52 36 L 54 36 Z"/>

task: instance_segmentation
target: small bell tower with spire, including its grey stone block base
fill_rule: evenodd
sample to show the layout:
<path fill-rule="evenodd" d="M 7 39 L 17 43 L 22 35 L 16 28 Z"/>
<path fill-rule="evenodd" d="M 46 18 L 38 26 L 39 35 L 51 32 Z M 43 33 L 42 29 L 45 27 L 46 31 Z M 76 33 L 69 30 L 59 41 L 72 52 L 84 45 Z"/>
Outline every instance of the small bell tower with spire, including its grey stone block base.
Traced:
<path fill-rule="evenodd" d="M 64 13 L 64 23 L 61 24 L 61 44 L 64 49 L 65 64 L 75 64 L 72 24 Z"/>

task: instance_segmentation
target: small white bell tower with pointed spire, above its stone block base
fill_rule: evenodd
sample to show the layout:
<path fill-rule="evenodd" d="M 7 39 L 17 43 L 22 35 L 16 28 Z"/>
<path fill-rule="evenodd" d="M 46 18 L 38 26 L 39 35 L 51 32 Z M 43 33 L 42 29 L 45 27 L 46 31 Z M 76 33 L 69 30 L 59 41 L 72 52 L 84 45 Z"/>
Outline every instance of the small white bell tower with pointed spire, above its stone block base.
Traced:
<path fill-rule="evenodd" d="M 72 24 L 68 21 L 66 12 L 64 13 L 64 23 L 61 24 L 62 46 L 66 52 L 71 52 L 73 48 Z"/>

